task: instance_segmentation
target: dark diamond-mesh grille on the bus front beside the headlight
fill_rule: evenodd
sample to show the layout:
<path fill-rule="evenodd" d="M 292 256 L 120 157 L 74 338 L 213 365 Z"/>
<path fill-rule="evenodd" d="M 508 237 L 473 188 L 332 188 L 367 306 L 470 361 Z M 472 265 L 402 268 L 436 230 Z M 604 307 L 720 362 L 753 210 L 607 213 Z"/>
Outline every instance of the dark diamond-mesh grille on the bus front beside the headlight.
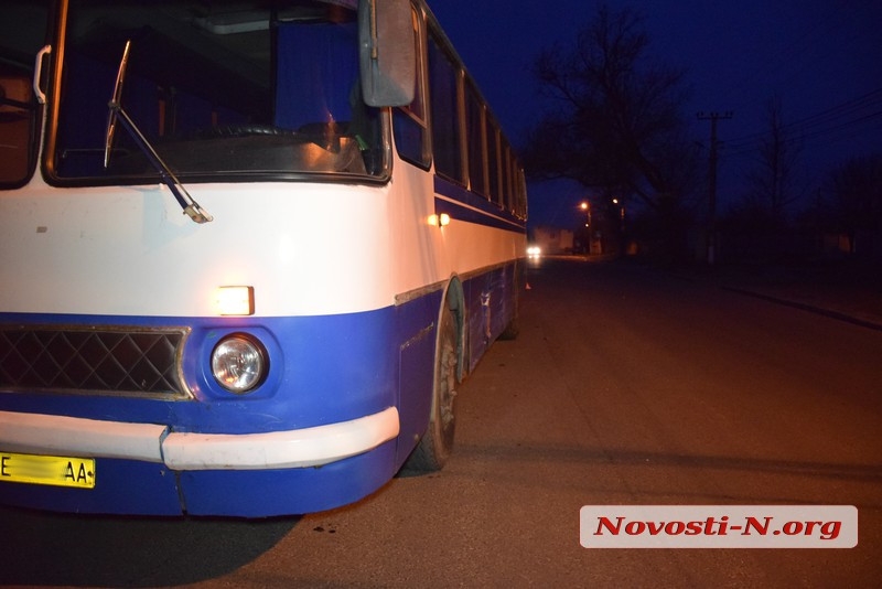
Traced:
<path fill-rule="evenodd" d="M 0 325 L 0 389 L 185 398 L 186 330 Z"/>

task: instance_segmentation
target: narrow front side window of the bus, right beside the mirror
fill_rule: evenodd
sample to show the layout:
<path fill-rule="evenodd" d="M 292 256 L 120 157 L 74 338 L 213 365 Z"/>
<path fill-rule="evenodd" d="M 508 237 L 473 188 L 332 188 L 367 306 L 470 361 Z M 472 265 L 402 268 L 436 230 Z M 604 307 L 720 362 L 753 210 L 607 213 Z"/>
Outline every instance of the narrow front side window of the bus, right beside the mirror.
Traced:
<path fill-rule="evenodd" d="M 421 35 L 421 19 L 416 10 L 411 10 L 413 22 L 413 42 L 417 45 L 417 76 L 415 79 L 413 101 L 396 108 L 394 111 L 395 144 L 402 159 L 421 168 L 429 168 L 432 154 L 429 148 L 429 133 L 426 121 L 424 75 L 426 60 Z"/>

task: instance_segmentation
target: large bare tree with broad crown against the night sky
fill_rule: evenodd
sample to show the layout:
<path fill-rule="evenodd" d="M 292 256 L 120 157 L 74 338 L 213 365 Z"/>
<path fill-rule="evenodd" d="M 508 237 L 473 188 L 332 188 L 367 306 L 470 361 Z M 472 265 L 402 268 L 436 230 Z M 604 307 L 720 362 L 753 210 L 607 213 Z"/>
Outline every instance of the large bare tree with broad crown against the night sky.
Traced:
<path fill-rule="evenodd" d="M 627 191 L 656 210 L 676 205 L 695 163 L 680 106 L 682 73 L 650 63 L 643 19 L 601 6 L 574 45 L 535 64 L 555 105 L 534 128 L 529 172 Z"/>

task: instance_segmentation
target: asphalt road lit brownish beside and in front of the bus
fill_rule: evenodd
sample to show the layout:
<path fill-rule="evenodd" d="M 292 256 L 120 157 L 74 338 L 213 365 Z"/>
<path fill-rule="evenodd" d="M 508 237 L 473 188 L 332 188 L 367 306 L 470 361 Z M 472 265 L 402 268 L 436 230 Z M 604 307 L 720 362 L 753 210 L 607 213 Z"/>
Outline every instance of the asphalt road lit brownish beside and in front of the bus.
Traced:
<path fill-rule="evenodd" d="M 882 331 L 645 268 L 534 268 L 458 447 L 342 510 L 258 522 L 0 510 L 6 585 L 873 587 Z M 840 549 L 598 549 L 582 505 L 854 505 Z M 810 515 L 810 514 L 809 514 Z"/>

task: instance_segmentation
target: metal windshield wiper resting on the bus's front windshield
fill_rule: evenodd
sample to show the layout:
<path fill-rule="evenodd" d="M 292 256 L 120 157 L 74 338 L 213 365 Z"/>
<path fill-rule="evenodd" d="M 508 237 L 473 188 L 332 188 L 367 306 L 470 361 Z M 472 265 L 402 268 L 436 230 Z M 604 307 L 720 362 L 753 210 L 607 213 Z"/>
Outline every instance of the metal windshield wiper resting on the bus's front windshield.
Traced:
<path fill-rule="evenodd" d="M 129 132 L 131 138 L 135 139 L 135 143 L 138 146 L 138 148 L 140 148 L 144 156 L 147 156 L 150 164 L 155 168 L 157 172 L 159 172 L 160 179 L 166 186 L 169 186 L 169 190 L 174 195 L 178 204 L 181 205 L 181 208 L 184 210 L 184 213 L 196 223 L 208 223 L 209 221 L 213 221 L 214 217 L 193 200 L 193 196 L 191 196 L 184 185 L 181 184 L 181 181 L 178 180 L 178 176 L 174 175 L 174 172 L 172 172 L 171 168 L 169 168 L 168 164 L 162 161 L 162 158 L 159 157 L 157 150 L 153 149 L 153 146 L 150 144 L 150 141 L 147 140 L 140 129 L 138 129 L 138 126 L 135 125 L 135 121 L 131 120 L 129 115 L 122 108 L 122 84 L 126 78 L 126 68 L 129 63 L 130 47 L 131 40 L 126 41 L 126 49 L 122 50 L 122 58 L 119 62 L 119 71 L 117 72 L 117 83 L 114 86 L 114 95 L 110 97 L 110 101 L 107 104 L 110 113 L 107 117 L 107 135 L 105 137 L 104 144 L 104 167 L 107 169 L 107 167 L 110 164 L 110 152 L 114 148 L 114 135 L 116 133 L 117 122 L 119 121 Z"/>

